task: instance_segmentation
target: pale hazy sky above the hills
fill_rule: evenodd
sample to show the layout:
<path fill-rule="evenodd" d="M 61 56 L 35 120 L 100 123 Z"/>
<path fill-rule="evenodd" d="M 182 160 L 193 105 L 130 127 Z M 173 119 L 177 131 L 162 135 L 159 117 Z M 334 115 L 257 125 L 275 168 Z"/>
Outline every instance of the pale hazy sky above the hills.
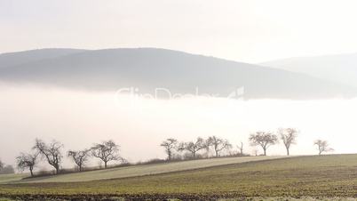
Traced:
<path fill-rule="evenodd" d="M 1 0 L 0 52 L 162 47 L 260 62 L 357 52 L 357 2 Z"/>

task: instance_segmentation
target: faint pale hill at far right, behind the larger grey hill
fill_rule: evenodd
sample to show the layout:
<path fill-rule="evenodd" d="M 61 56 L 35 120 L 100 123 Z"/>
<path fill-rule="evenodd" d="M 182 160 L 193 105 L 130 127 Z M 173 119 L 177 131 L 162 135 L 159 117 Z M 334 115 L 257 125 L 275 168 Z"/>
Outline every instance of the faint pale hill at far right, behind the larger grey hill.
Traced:
<path fill-rule="evenodd" d="M 357 87 L 357 53 L 273 60 L 260 65 L 305 73 Z"/>

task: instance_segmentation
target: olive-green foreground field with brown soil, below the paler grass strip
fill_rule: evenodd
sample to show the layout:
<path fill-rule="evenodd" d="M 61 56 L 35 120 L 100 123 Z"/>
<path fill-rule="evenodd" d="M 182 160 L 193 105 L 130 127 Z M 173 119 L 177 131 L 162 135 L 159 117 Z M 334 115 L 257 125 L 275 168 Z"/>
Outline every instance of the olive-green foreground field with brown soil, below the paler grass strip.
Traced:
<path fill-rule="evenodd" d="M 357 197 L 357 155 L 279 158 L 115 180 L 12 183 L 0 185 L 0 192 L 2 197 L 35 199 L 342 197 L 345 200 Z"/>

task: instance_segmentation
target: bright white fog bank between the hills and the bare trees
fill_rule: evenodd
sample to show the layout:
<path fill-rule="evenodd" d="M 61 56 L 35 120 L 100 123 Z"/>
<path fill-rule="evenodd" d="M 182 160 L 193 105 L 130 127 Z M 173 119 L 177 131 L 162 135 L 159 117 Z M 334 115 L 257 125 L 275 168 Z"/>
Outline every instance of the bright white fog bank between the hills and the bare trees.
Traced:
<path fill-rule="evenodd" d="M 252 154 L 248 136 L 279 127 L 300 130 L 292 155 L 316 154 L 313 141 L 329 141 L 334 153 L 355 153 L 357 100 L 239 101 L 217 98 L 143 100 L 115 92 L 71 91 L 52 87 L 0 84 L 0 158 L 14 164 L 37 138 L 61 141 L 65 149 L 89 148 L 113 139 L 130 162 L 164 158 L 161 141 L 217 135 Z M 260 149 L 259 153 L 262 153 Z M 284 155 L 282 143 L 268 155 Z M 96 159 L 93 159 L 95 164 Z M 72 166 L 68 158 L 66 167 Z"/>

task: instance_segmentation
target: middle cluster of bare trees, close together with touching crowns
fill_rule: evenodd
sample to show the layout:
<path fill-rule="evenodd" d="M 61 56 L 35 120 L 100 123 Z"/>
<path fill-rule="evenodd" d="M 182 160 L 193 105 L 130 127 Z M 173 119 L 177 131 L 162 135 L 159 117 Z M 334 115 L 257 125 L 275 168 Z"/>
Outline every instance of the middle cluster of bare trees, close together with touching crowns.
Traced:
<path fill-rule="evenodd" d="M 172 160 L 174 151 L 183 152 L 186 151 L 190 153 L 191 157 L 197 157 L 197 153 L 200 150 L 205 150 L 207 157 L 209 157 L 210 150 L 214 151 L 214 156 L 219 157 L 219 154 L 223 150 L 228 150 L 232 148 L 232 144 L 226 139 L 219 138 L 217 136 L 210 136 L 207 139 L 198 137 L 195 141 L 182 141 L 169 138 L 163 141 L 160 146 L 163 147 L 167 154 L 167 159 Z"/>

